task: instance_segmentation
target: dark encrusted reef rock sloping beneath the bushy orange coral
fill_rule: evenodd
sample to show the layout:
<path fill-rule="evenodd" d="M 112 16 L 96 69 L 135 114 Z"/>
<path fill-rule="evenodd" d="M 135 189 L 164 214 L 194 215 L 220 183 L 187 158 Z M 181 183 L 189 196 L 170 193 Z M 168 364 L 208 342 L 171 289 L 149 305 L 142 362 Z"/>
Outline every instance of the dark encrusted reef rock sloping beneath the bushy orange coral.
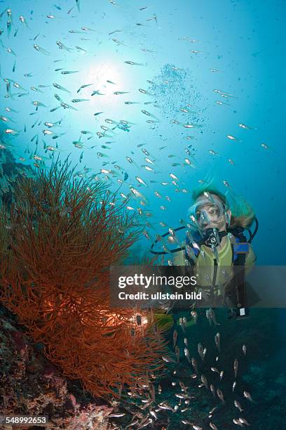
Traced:
<path fill-rule="evenodd" d="M 0 369 L 0 416 L 45 415 L 48 429 L 110 428 L 107 416 L 114 408 L 84 395 L 67 381 L 43 356 L 41 345 L 34 344 L 1 305 Z M 0 424 L 0 429 L 12 427 Z"/>

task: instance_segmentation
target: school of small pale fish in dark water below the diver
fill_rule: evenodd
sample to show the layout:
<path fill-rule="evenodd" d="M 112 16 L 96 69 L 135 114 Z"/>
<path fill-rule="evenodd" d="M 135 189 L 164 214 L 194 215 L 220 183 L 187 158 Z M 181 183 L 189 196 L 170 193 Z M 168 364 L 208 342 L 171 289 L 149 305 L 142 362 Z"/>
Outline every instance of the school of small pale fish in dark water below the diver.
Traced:
<path fill-rule="evenodd" d="M 205 312 L 205 317 L 204 317 Z M 168 367 L 168 379 L 156 377 L 153 372 L 137 382 L 127 393 L 121 393 L 116 405 L 132 405 L 135 408 L 131 421 L 116 429 L 142 429 L 144 426 L 152 428 L 158 422 L 169 422 L 169 428 L 180 422 L 186 429 L 232 429 L 233 424 L 251 426 L 248 421 L 247 410 L 250 404 L 257 403 L 245 389 L 241 367 L 245 368 L 247 346 L 240 345 L 236 358 L 229 364 L 222 360 L 226 345 L 221 333 L 214 335 L 212 344 L 204 346 L 193 343 L 193 330 L 204 330 L 205 320 L 210 330 L 217 330 L 217 318 L 213 308 L 206 311 L 189 312 L 189 316 L 180 317 L 170 339 L 170 352 L 162 359 Z M 190 321 L 193 327 L 188 327 Z M 240 367 L 241 366 L 241 367 Z M 187 370 L 187 371 L 186 371 Z M 224 380 L 224 373 L 229 374 Z M 231 376 L 232 374 L 232 376 Z M 203 397 L 202 397 L 203 396 Z M 208 415 L 200 412 L 200 401 L 209 404 Z M 125 414 L 113 417 L 127 419 Z M 168 417 L 168 418 L 167 418 Z M 224 426 L 220 418 L 224 417 Z M 174 421 L 173 421 L 174 420 Z M 229 420 L 229 421 L 228 421 Z M 173 423 L 171 426 L 171 423 Z M 163 429 L 163 427 L 160 427 Z M 175 427 L 174 427 L 175 428 Z M 181 428 L 181 427 L 180 427 Z"/>

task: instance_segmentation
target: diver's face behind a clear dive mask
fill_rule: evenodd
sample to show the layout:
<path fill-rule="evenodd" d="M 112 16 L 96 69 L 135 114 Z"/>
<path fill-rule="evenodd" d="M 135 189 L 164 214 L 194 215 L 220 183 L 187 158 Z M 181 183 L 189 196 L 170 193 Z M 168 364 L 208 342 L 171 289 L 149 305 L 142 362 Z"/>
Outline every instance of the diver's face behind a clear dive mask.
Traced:
<path fill-rule="evenodd" d="M 207 228 L 217 228 L 219 231 L 224 231 L 226 230 L 224 204 L 217 195 L 211 194 L 211 197 L 212 201 L 210 202 L 205 202 L 204 196 L 200 196 L 196 200 L 196 221 L 203 231 Z"/>

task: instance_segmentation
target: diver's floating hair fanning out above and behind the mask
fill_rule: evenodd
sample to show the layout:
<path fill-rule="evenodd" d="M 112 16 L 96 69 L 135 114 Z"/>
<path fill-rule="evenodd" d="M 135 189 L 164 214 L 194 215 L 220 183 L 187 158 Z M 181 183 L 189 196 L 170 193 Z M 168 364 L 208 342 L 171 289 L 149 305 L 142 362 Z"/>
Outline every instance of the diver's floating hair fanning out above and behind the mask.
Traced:
<path fill-rule="evenodd" d="M 231 221 L 229 223 L 229 230 L 236 227 L 249 228 L 255 218 L 254 211 L 250 204 L 246 202 L 242 197 L 233 196 L 226 200 L 226 195 L 221 193 L 219 190 L 213 187 L 204 188 L 200 187 L 193 190 L 192 198 L 193 201 L 197 200 L 198 197 L 203 195 L 203 193 L 214 194 L 222 200 L 226 210 L 231 210 Z"/>

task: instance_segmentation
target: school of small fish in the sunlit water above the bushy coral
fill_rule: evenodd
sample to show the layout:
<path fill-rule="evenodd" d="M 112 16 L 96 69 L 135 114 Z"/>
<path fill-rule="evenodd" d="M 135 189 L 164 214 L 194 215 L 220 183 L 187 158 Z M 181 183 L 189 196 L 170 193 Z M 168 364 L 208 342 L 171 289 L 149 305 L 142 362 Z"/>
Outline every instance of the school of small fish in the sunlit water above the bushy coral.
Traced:
<path fill-rule="evenodd" d="M 54 4 L 47 8 L 46 15 L 42 17 L 34 11 L 25 11 L 24 7 L 13 10 L 8 6 L 1 11 L 0 23 L 4 30 L 1 30 L 0 39 L 0 88 L 6 107 L 2 107 L 0 116 L 0 124 L 5 127 L 0 149 L 2 152 L 5 149 L 11 150 L 19 162 L 32 164 L 36 169 L 48 169 L 49 162 L 55 155 L 60 157 L 61 163 L 62 157 L 66 157 L 69 152 L 76 157 L 76 151 L 81 150 L 78 159 L 85 167 L 76 178 L 84 177 L 87 182 L 106 182 L 114 189 L 119 186 L 126 198 L 122 200 L 122 196 L 118 196 L 116 200 L 118 203 L 130 202 L 126 209 L 137 211 L 142 216 L 147 227 L 144 237 L 154 241 L 156 235 L 148 227 L 147 217 L 153 216 L 156 209 L 163 211 L 165 216 L 165 211 L 172 207 L 177 193 L 190 193 L 186 183 L 189 183 L 193 171 L 200 169 L 196 159 L 198 145 L 179 143 L 172 154 L 168 153 L 167 142 L 166 145 L 158 145 L 158 148 L 150 148 L 148 141 L 135 142 L 135 133 L 137 127 L 144 124 L 151 133 L 160 130 L 161 124 L 165 126 L 164 109 L 168 105 L 166 102 L 170 100 L 162 98 L 162 93 L 168 96 L 168 88 L 170 94 L 177 89 L 176 79 L 181 79 L 183 69 L 176 65 L 165 65 L 160 79 L 155 79 L 149 72 L 149 62 L 156 58 L 154 46 L 142 47 L 140 44 L 139 48 L 135 48 L 126 30 L 109 28 L 109 16 L 105 11 L 101 16 L 104 31 L 95 24 L 93 18 L 90 22 L 81 20 L 83 8 L 87 7 L 85 3 L 84 0 L 70 0 L 65 6 Z M 107 4 L 112 8 L 110 13 L 119 13 L 119 10 L 123 13 L 124 8 L 120 2 L 107 0 Z M 95 10 L 97 12 L 100 13 L 100 8 Z M 160 16 L 154 6 L 138 6 L 136 16 L 135 22 L 130 22 L 130 27 L 134 27 L 133 32 L 138 32 L 137 36 L 144 34 L 147 37 L 148 32 L 161 30 Z M 29 51 L 29 62 L 26 63 L 30 64 L 29 70 L 24 69 L 25 60 L 17 48 L 19 38 L 25 40 Z M 106 76 L 100 80 L 93 72 L 87 72 L 86 64 L 93 58 L 97 70 L 100 70 L 101 64 L 104 67 L 104 63 L 101 63 L 103 59 L 94 48 L 103 43 L 110 45 L 109 49 L 119 54 L 118 63 L 128 76 L 131 77 L 134 73 L 136 77 L 137 70 L 144 70 L 144 75 L 149 79 L 137 82 L 137 89 L 133 90 L 128 84 L 120 84 L 122 79 L 116 79 L 114 73 L 109 76 L 108 72 L 104 72 Z M 188 51 L 189 44 L 202 42 L 178 35 L 176 43 L 182 49 L 186 44 Z M 190 52 L 193 54 L 191 61 L 196 61 L 200 56 L 207 58 L 209 55 L 203 49 L 192 49 Z M 37 71 L 33 70 L 31 60 L 37 63 Z M 40 70 L 43 66 L 43 73 L 40 74 L 39 65 Z M 46 69 L 50 70 L 49 74 L 44 73 Z M 208 72 L 219 76 L 224 70 L 210 64 Z M 42 74 L 45 82 L 42 82 Z M 88 82 L 81 78 L 86 75 L 89 77 Z M 222 106 L 219 109 L 227 109 L 238 98 L 236 94 L 223 89 L 213 89 L 213 93 L 215 97 L 222 98 L 214 101 L 214 104 Z M 187 92 L 186 97 L 190 97 Z M 105 98 L 107 101 L 104 101 Z M 168 119 L 169 126 L 177 127 L 182 139 L 198 141 L 204 124 L 196 105 L 187 98 L 172 111 L 172 117 Z M 114 103 L 119 103 L 116 117 L 109 115 L 109 105 Z M 26 115 L 22 115 L 23 110 Z M 25 118 L 24 124 L 21 123 L 20 115 Z M 122 119 L 123 115 L 130 115 L 131 119 Z M 87 116 L 93 118 L 92 128 L 86 127 L 85 122 L 90 123 L 90 119 L 85 120 Z M 74 138 L 70 138 L 69 134 L 71 124 L 74 129 L 75 124 L 78 124 L 78 134 Z M 236 134 L 239 130 L 241 138 Z M 233 128 L 226 134 L 233 145 L 233 157 L 226 158 L 226 163 L 236 167 L 236 144 L 246 145 L 246 134 L 255 130 L 255 126 L 239 122 L 237 129 Z M 136 136 L 135 141 L 132 141 L 132 133 Z M 116 141 L 124 139 L 128 139 L 130 143 L 124 143 L 124 148 L 129 150 L 122 154 L 122 158 L 121 151 L 118 151 L 121 143 Z M 163 136 L 161 139 L 167 140 Z M 271 150 L 266 143 L 259 145 L 265 150 Z M 172 142 L 171 147 L 174 147 Z M 213 162 L 215 159 L 221 162 L 222 155 L 216 150 L 202 151 L 211 155 Z M 168 176 L 162 174 L 166 167 L 169 169 Z M 90 174 L 86 174 L 85 169 L 90 169 Z M 203 183 L 203 179 L 199 182 Z M 223 179 L 222 185 L 231 189 L 228 179 Z M 145 188 L 145 191 L 141 191 L 140 187 Z M 153 196 L 156 197 L 155 201 Z M 159 224 L 162 223 L 163 221 Z M 163 241 L 162 247 L 168 251 L 170 248 L 167 245 L 177 245 L 178 240 L 175 236 L 173 239 L 169 244 Z"/>

